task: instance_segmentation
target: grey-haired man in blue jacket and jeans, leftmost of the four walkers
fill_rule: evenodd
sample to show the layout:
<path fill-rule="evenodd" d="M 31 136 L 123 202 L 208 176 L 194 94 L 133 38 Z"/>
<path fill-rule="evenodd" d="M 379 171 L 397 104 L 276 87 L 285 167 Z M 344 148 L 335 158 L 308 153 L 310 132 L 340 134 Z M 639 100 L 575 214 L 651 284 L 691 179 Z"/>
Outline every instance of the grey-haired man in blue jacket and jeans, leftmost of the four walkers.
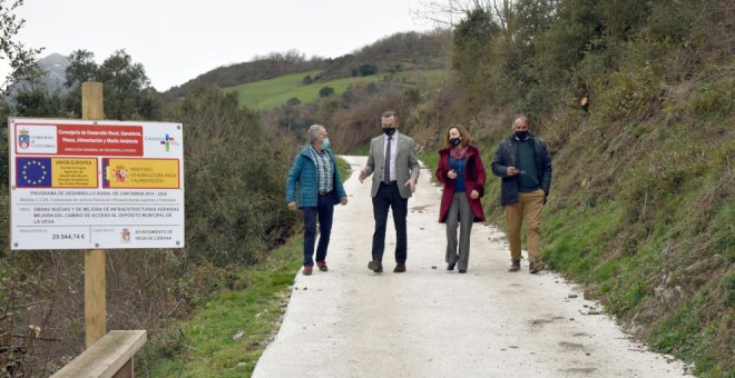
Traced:
<path fill-rule="evenodd" d="M 304 212 L 304 270 L 311 276 L 314 267 L 314 243 L 318 218 L 320 238 L 316 247 L 316 266 L 327 271 L 326 249 L 330 246 L 334 206 L 347 205 L 334 153 L 330 149 L 326 129 L 321 125 L 308 128 L 310 145 L 294 159 L 286 180 L 286 203 L 291 210 Z"/>

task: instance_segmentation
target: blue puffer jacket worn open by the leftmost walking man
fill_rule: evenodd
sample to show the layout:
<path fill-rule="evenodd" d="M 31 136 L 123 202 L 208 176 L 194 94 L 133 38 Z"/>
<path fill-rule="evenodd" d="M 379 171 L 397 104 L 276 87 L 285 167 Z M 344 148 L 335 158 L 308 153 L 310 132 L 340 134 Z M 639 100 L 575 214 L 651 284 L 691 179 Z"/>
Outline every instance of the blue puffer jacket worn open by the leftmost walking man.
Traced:
<path fill-rule="evenodd" d="M 291 167 L 291 172 L 288 172 L 288 179 L 286 180 L 286 203 L 296 201 L 300 209 L 316 207 L 318 177 L 316 175 L 316 162 L 312 159 L 311 153 L 308 153 L 310 147 L 306 146 L 301 152 L 296 153 L 294 165 Z M 332 190 L 330 199 L 334 205 L 337 205 L 342 197 L 347 195 L 344 192 L 344 187 L 340 179 L 340 171 L 336 167 L 334 153 L 329 148 L 326 152 L 332 158 L 332 171 L 334 172 L 332 181 L 332 188 L 334 190 Z"/>

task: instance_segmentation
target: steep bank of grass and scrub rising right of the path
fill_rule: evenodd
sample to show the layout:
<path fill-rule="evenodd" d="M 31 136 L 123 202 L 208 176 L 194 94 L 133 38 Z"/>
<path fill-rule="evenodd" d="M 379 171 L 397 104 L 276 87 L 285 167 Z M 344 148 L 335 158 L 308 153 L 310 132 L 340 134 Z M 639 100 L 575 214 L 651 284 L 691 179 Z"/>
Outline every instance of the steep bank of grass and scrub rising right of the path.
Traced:
<path fill-rule="evenodd" d="M 337 151 L 364 152 L 378 116 L 396 110 L 428 163 L 447 126 L 463 123 L 487 167 L 513 115 L 531 116 L 555 161 L 542 257 L 655 350 L 695 362 L 697 375 L 732 376 L 735 9 L 521 4 L 504 14 L 514 23 L 479 8 L 457 24 L 440 90 L 381 82 L 339 107 L 292 112 L 332 126 Z M 490 176 L 483 205 L 502 228 L 499 187 Z"/>

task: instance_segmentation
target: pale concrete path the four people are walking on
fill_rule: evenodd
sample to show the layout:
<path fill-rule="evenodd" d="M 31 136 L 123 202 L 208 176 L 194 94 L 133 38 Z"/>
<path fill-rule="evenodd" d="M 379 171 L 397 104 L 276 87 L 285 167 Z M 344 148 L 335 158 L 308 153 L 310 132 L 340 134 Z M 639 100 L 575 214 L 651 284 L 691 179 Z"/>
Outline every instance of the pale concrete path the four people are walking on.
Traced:
<path fill-rule="evenodd" d="M 508 273 L 508 246 L 493 227 L 476 223 L 468 273 L 448 272 L 440 189 L 429 170 L 409 200 L 408 272 L 392 272 L 390 216 L 385 272 L 367 270 L 370 182 L 354 173 L 365 158 L 346 159 L 350 203 L 335 208 L 330 271 L 296 277 L 254 377 L 685 376 L 680 361 L 645 351 L 607 316 L 587 315 L 599 305 L 582 299 L 580 287 L 529 275 L 526 261 Z"/>

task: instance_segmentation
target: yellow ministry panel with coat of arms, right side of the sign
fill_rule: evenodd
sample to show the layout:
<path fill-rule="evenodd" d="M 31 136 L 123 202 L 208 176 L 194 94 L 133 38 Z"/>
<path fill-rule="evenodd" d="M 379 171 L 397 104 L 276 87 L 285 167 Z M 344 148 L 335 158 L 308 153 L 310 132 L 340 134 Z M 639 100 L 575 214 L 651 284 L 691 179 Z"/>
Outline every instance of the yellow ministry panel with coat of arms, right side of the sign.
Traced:
<path fill-rule="evenodd" d="M 178 189 L 177 159 L 105 159 L 105 187 Z"/>

